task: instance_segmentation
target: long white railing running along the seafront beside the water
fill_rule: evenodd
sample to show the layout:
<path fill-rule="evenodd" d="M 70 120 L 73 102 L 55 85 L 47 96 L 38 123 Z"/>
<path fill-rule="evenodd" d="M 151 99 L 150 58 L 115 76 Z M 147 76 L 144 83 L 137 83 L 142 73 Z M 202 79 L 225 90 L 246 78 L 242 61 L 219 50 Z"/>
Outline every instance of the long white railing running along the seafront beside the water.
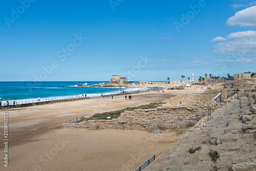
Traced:
<path fill-rule="evenodd" d="M 161 90 L 162 88 L 158 88 L 158 90 Z M 153 91 L 154 89 L 147 89 L 147 91 Z M 46 101 L 56 101 L 56 100 L 67 100 L 67 99 L 78 99 L 78 98 L 86 98 L 86 97 L 104 97 L 107 95 L 115 95 L 115 94 L 123 94 L 123 93 L 134 93 L 139 92 L 137 90 L 131 90 L 131 91 L 117 91 L 117 92 L 108 92 L 108 93 L 96 93 L 96 94 L 84 94 L 84 95 L 74 95 L 74 96 L 60 96 L 60 97 L 49 97 L 49 98 L 40 98 L 40 99 L 27 99 L 27 100 L 15 100 L 15 103 L 13 100 L 2 100 L 2 106 L 7 105 L 7 101 L 9 101 L 9 105 L 17 105 L 17 104 L 28 104 L 28 103 L 37 103 L 37 102 L 46 102 Z M 144 91 L 140 91 L 144 92 Z"/>

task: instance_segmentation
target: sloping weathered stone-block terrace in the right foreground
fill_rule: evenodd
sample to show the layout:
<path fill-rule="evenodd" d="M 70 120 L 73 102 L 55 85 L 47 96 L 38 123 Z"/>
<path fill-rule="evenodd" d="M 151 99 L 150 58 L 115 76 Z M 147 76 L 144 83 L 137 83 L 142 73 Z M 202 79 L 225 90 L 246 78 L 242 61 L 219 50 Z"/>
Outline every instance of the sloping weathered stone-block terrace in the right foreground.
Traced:
<path fill-rule="evenodd" d="M 202 118 L 147 170 L 256 170 L 256 93 L 243 93 Z M 201 128 L 201 122 L 206 127 Z M 189 149 L 199 151 L 189 154 Z M 218 153 L 216 162 L 210 151 Z"/>

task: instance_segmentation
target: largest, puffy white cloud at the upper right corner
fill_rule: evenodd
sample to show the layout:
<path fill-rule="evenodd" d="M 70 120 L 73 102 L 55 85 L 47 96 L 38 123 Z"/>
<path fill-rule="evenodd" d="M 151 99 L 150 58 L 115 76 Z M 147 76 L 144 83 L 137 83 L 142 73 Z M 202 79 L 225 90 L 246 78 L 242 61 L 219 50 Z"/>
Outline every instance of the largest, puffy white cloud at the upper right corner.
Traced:
<path fill-rule="evenodd" d="M 227 20 L 227 24 L 230 26 L 239 25 L 245 26 L 256 26 L 256 6 L 246 8 L 244 10 L 236 12 L 234 16 L 231 16 Z"/>

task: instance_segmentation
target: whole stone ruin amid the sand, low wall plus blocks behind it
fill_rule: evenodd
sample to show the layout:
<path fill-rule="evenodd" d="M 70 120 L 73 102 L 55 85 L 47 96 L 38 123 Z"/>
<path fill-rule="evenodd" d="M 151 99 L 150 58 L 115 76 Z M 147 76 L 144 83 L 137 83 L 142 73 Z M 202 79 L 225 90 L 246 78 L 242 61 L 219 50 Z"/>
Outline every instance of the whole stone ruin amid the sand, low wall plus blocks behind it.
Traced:
<path fill-rule="evenodd" d="M 166 103 L 163 106 L 158 106 L 156 109 L 124 111 L 117 119 L 88 120 L 76 124 L 62 123 L 61 127 L 89 128 L 89 130 L 117 129 L 154 131 L 158 130 L 159 125 L 168 128 L 177 125 L 185 125 L 188 122 L 197 123 L 202 117 L 207 115 L 209 108 L 211 108 L 211 112 L 213 112 L 222 107 L 221 103 L 208 101 L 208 99 L 214 98 L 218 93 L 219 91 L 214 90 L 206 94 L 178 95 L 175 98 L 180 98 L 179 101 L 182 102 L 177 105 Z M 182 99 L 183 97 L 189 97 L 190 99 L 184 100 Z M 172 100 L 172 98 L 170 99 Z"/>

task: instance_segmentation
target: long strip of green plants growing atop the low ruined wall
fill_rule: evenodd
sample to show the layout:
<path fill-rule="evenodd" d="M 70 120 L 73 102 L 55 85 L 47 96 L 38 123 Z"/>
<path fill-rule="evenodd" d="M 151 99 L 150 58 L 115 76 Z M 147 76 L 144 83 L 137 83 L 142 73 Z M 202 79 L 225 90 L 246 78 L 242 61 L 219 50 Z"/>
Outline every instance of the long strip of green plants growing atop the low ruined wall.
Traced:
<path fill-rule="evenodd" d="M 145 104 L 145 105 L 140 105 L 138 107 L 132 107 L 132 108 L 124 108 L 121 110 L 117 111 L 111 111 L 111 112 L 104 112 L 104 113 L 96 113 L 95 115 L 92 116 L 92 118 L 87 118 L 87 120 L 92 120 L 92 119 L 104 119 L 106 120 L 107 117 L 111 117 L 111 119 L 117 119 L 121 113 L 124 111 L 134 111 L 135 109 L 155 109 L 157 106 L 161 106 L 164 104 L 163 102 L 156 102 L 156 103 L 150 103 L 150 104 Z"/>

